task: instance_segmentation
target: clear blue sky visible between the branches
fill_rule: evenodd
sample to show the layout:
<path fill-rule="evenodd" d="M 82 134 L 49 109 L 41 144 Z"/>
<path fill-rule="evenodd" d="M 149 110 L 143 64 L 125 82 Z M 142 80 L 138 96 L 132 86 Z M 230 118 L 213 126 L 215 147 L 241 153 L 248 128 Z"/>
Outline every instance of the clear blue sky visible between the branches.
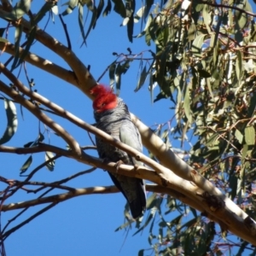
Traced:
<path fill-rule="evenodd" d="M 35 12 L 43 1 L 32 2 L 32 10 Z M 59 3 L 61 6 L 61 3 Z M 139 7 L 137 6 L 137 9 Z M 61 8 L 61 12 L 64 8 Z M 120 27 L 122 19 L 113 11 L 108 17 L 101 17 L 97 21 L 96 30 L 90 32 L 87 40 L 87 47 L 80 48 L 82 39 L 79 32 L 78 13 L 75 9 L 72 15 L 64 17 L 67 23 L 73 51 L 84 61 L 86 65 L 90 65 L 90 72 L 98 79 L 108 65 L 114 60 L 113 51 L 117 53 L 127 53 L 127 47 L 130 47 L 133 53 L 141 52 L 149 49 L 144 44 L 144 38 L 135 39 L 134 43 L 128 42 L 126 36 L 126 28 Z M 40 26 L 44 27 L 46 19 L 40 22 Z M 0 21 L 1 27 L 4 26 L 3 21 Z M 140 25 L 136 25 L 137 34 Z M 10 30 L 9 40 L 13 40 L 14 31 Z M 61 21 L 55 16 L 55 24 L 49 21 L 46 28 L 52 36 L 57 38 L 61 43 L 66 44 L 66 38 L 63 33 Z M 154 46 L 153 46 L 154 47 Z M 154 49 L 154 48 L 153 48 Z M 53 52 L 46 49 L 39 43 L 32 46 L 32 53 L 38 54 L 44 58 L 53 61 L 63 67 L 67 64 L 61 60 Z M 4 62 L 9 55 L 1 55 L 1 62 Z M 52 102 L 59 104 L 62 108 L 76 114 L 79 118 L 92 124 L 94 122 L 91 102 L 77 88 L 67 84 L 61 79 L 56 79 L 49 73 L 38 70 L 30 64 L 26 64 L 28 76 L 34 79 L 36 83 L 35 89 L 38 93 L 46 96 Z M 67 67 L 68 68 L 68 67 Z M 146 125 L 154 125 L 166 122 L 173 116 L 169 109 L 172 103 L 168 100 L 151 103 L 148 84 L 146 83 L 137 93 L 134 89 L 137 86 L 138 62 L 130 68 L 130 70 L 122 78 L 122 87 L 120 96 L 127 103 L 130 111 L 135 113 Z M 17 74 L 18 71 L 16 70 Z M 3 79 L 3 75 L 1 76 Z M 3 79 L 8 83 L 6 79 Z M 20 80 L 26 84 L 26 79 L 23 74 L 20 74 Z M 103 84 L 108 84 L 108 73 L 102 78 Z M 158 94 L 156 89 L 154 96 Z M 3 104 L 3 103 L 2 103 Z M 2 105 L 3 106 L 3 105 Z M 17 106 L 19 126 L 15 137 L 6 145 L 13 147 L 22 147 L 24 144 L 33 141 L 38 137 L 38 120 L 32 117 L 25 109 L 24 120 L 20 114 L 20 108 Z M 1 119 L 5 118 L 3 108 L 0 108 Z M 49 116 L 51 116 L 49 114 Z M 82 131 L 74 125 L 70 125 L 65 120 L 51 116 L 55 121 L 60 122 L 63 127 L 69 131 L 80 143 L 81 146 L 90 145 L 90 140 L 85 131 Z M 5 129 L 5 121 L 0 123 L 0 134 Z M 41 125 L 41 131 L 44 132 L 44 125 Z M 45 143 L 58 145 L 65 148 L 66 143 L 61 141 L 59 137 L 49 133 L 44 133 Z M 179 143 L 174 143 L 178 147 Z M 95 154 L 95 152 L 92 152 Z M 26 161 L 28 155 L 13 155 L 0 154 L 1 175 L 3 177 L 21 179 L 19 177 L 20 167 Z M 44 154 L 33 156 L 31 168 L 27 171 L 32 171 L 33 168 L 44 162 Z M 60 159 L 55 163 L 55 171 L 49 172 L 46 168 L 40 170 L 32 179 L 33 181 L 55 181 L 63 177 L 74 174 L 75 172 L 89 169 L 90 166 L 84 166 L 74 160 Z M 101 186 L 112 184 L 108 173 L 102 170 L 79 177 L 67 185 L 75 188 L 84 188 L 90 186 Z M 0 183 L 1 190 L 4 188 L 3 183 Z M 56 190 L 54 194 L 61 193 Z M 15 195 L 6 203 L 26 201 L 34 198 L 35 195 L 26 194 L 26 192 Z M 132 236 L 136 231 L 132 229 L 126 236 L 125 231 L 114 232 L 114 230 L 123 224 L 123 210 L 125 199 L 123 195 L 85 195 L 65 201 L 50 209 L 48 212 L 32 220 L 23 228 L 16 231 L 15 234 L 9 236 L 5 242 L 5 247 L 8 255 L 137 255 L 137 252 L 142 248 L 150 248 L 148 245 L 148 233 L 143 232 L 142 235 Z M 35 209 L 39 210 L 41 207 Z M 29 210 L 22 219 L 27 218 L 35 211 Z M 17 211 L 3 212 L 1 216 L 2 227 L 6 222 L 15 216 Z M 171 217 L 170 217 L 171 218 Z M 18 224 L 18 222 L 15 222 Z M 151 251 L 148 251 L 150 254 Z"/>

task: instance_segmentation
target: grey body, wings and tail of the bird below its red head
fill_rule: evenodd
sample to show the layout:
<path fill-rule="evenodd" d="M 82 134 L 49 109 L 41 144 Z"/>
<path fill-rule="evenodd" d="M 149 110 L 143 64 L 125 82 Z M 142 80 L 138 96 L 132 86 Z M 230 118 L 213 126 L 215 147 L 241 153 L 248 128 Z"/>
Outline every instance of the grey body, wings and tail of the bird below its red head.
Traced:
<path fill-rule="evenodd" d="M 125 102 L 118 98 L 118 104 L 113 109 L 103 112 L 94 112 L 96 127 L 107 132 L 115 139 L 125 143 L 138 151 L 143 151 L 141 136 L 137 127 L 131 121 L 131 115 Z M 105 143 L 101 138 L 96 137 L 96 146 L 99 156 L 102 159 L 118 162 L 122 160 L 126 165 L 142 165 L 125 151 Z M 143 214 L 146 207 L 145 185 L 142 179 L 137 177 L 126 177 L 117 173 L 108 172 L 113 183 L 125 195 L 131 209 L 133 218 Z"/>

